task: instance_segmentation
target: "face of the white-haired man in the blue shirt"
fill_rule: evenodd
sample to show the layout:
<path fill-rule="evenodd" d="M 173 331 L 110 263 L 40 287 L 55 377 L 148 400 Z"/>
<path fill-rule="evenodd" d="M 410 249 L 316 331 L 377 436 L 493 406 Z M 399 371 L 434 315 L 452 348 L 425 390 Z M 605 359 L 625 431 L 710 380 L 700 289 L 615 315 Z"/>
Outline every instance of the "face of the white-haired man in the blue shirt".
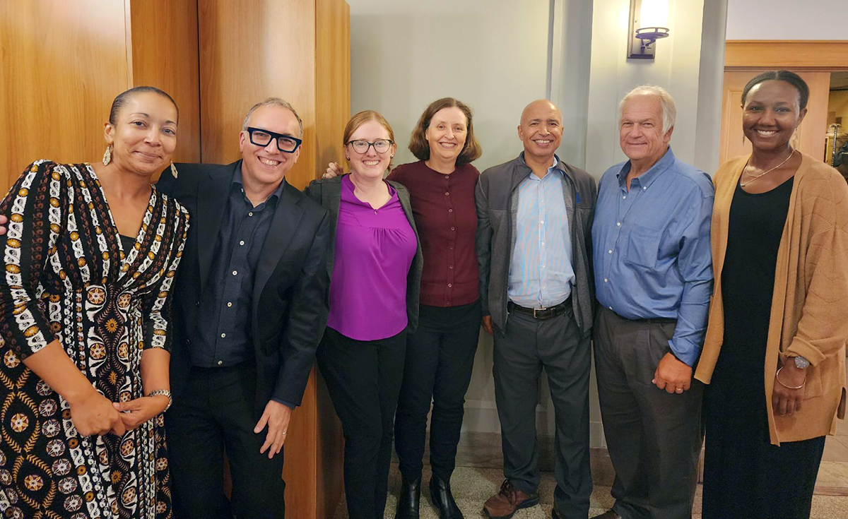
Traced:
<path fill-rule="evenodd" d="M 662 158 L 672 140 L 672 128 L 662 131 L 659 96 L 644 94 L 629 98 L 622 107 L 619 142 L 633 163 L 650 167 Z"/>

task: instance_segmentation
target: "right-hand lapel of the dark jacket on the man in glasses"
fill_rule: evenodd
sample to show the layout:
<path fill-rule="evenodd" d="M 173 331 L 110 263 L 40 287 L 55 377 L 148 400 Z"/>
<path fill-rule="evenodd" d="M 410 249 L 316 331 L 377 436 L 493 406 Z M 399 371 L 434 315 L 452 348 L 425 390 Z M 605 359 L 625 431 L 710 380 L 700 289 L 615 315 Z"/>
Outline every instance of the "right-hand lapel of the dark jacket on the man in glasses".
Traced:
<path fill-rule="evenodd" d="M 304 215 L 304 209 L 300 207 L 300 198 L 296 188 L 292 187 L 283 179 L 282 197 L 277 203 L 271 227 L 265 235 L 265 243 L 262 244 L 262 252 L 259 254 L 259 264 L 256 265 L 256 276 L 254 279 L 254 315 L 259 309 L 259 295 L 271 273 L 280 262 L 282 254 L 288 248 L 288 244 L 294 237 L 300 219 Z"/>

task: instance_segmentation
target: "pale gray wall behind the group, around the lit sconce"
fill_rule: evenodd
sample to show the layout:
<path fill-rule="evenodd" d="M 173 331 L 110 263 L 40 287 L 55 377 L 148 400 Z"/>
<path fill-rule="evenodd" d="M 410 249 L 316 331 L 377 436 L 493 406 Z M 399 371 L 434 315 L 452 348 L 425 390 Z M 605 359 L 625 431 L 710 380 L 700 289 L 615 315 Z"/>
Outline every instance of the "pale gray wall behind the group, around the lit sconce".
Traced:
<path fill-rule="evenodd" d="M 707 8 L 704 8 L 705 1 Z M 623 159 L 616 106 L 641 83 L 666 86 L 678 104 L 675 153 L 715 169 L 728 0 L 670 0 L 672 36 L 654 62 L 625 59 L 629 0 L 348 0 L 351 109 L 377 109 L 392 124 L 399 153 L 427 103 L 459 98 L 474 110 L 483 170 L 514 158 L 524 106 L 548 97 L 563 112 L 559 155 L 600 177 Z M 702 52 L 703 47 L 703 52 Z M 603 444 L 592 388 L 592 446 Z M 546 384 L 538 428 L 553 432 Z M 466 432 L 499 432 L 492 383 L 492 340 L 481 336 Z"/>

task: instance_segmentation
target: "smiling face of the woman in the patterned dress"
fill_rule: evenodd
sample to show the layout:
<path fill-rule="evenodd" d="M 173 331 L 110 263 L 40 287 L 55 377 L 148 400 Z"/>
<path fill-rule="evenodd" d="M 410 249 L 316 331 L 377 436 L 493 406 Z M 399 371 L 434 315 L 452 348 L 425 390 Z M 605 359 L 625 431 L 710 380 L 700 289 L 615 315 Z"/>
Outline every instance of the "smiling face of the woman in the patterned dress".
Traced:
<path fill-rule="evenodd" d="M 176 106 L 155 92 L 133 94 L 107 123 L 106 142 L 120 170 L 151 176 L 164 170 L 176 148 Z"/>

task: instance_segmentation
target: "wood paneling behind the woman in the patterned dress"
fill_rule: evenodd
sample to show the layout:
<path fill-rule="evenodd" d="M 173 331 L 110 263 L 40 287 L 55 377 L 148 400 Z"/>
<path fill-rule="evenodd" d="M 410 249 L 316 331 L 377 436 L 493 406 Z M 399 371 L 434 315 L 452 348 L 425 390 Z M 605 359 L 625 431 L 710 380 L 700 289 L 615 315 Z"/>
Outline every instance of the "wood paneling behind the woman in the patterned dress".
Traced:
<path fill-rule="evenodd" d="M 3 194 L 33 160 L 99 160 L 112 100 L 131 86 L 176 100 L 174 159 L 200 159 L 196 0 L 3 0 L 0 56 Z"/>

